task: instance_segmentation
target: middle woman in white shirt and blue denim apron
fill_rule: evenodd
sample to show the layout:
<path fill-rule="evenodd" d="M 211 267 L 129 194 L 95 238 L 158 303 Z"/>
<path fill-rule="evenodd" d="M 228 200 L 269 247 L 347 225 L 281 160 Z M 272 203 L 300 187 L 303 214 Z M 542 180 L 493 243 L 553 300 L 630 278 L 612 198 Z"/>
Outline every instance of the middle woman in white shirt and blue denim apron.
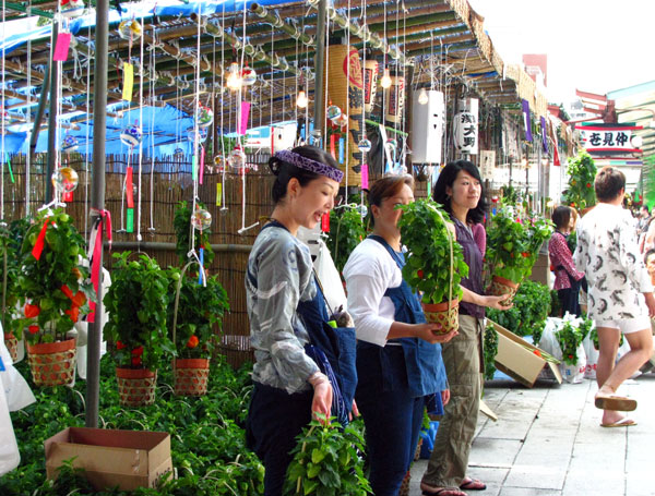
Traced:
<path fill-rule="evenodd" d="M 420 301 L 403 279 L 397 207 L 414 201 L 410 176 L 376 181 L 369 191 L 372 235 L 353 251 L 344 278 L 357 331 L 357 404 L 366 424 L 370 483 L 376 496 L 395 496 L 414 458 L 427 397 L 448 384 L 439 342 Z"/>

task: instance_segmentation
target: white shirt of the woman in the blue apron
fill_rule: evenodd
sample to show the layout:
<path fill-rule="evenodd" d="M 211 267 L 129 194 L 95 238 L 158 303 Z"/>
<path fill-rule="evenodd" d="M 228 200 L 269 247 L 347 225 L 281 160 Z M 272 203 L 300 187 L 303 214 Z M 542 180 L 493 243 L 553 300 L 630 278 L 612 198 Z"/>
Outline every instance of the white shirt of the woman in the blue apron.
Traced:
<path fill-rule="evenodd" d="M 401 286 L 401 269 L 382 244 L 366 239 L 353 250 L 343 274 L 357 339 L 385 346 L 395 309 L 384 293 Z"/>

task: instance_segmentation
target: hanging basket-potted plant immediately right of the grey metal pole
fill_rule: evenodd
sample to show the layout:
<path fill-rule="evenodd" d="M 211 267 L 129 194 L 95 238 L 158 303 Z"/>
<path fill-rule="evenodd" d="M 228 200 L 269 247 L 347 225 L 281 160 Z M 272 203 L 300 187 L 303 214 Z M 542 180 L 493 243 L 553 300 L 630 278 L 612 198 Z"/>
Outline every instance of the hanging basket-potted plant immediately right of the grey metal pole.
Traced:
<path fill-rule="evenodd" d="M 114 342 L 120 403 L 140 407 L 155 401 L 157 368 L 175 349 L 166 332 L 166 273 L 147 255 L 132 261 L 130 255 L 114 254 L 111 286 L 103 299 L 109 314 L 104 334 Z"/>

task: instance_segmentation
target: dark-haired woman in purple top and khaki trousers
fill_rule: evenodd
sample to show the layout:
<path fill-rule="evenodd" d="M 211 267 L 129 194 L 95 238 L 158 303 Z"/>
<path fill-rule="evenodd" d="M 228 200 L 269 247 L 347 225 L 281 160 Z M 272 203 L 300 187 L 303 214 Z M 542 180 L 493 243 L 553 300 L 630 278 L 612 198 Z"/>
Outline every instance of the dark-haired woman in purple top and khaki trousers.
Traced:
<path fill-rule="evenodd" d="M 487 487 L 466 476 L 481 390 L 485 306 L 498 310 L 510 306 L 501 305 L 504 297 L 483 295 L 486 232 L 481 222 L 487 203 L 477 167 L 467 160 L 448 164 L 439 174 L 433 199 L 450 214 L 468 265 L 468 277 L 462 279 L 464 297 L 460 303 L 460 334 L 442 344 L 451 398 L 444 407 L 420 488 L 425 495 L 465 496 L 461 489 Z"/>

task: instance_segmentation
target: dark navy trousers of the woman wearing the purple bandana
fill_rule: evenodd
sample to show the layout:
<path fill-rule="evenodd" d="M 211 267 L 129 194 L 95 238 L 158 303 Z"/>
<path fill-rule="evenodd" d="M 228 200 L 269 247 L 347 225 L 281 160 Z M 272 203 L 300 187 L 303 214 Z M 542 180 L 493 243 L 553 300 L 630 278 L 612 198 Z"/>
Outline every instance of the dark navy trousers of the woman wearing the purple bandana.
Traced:
<path fill-rule="evenodd" d="M 264 464 L 264 496 L 282 496 L 289 451 L 296 436 L 311 421 L 313 391 L 287 394 L 254 383 L 246 422 L 246 444 Z"/>

